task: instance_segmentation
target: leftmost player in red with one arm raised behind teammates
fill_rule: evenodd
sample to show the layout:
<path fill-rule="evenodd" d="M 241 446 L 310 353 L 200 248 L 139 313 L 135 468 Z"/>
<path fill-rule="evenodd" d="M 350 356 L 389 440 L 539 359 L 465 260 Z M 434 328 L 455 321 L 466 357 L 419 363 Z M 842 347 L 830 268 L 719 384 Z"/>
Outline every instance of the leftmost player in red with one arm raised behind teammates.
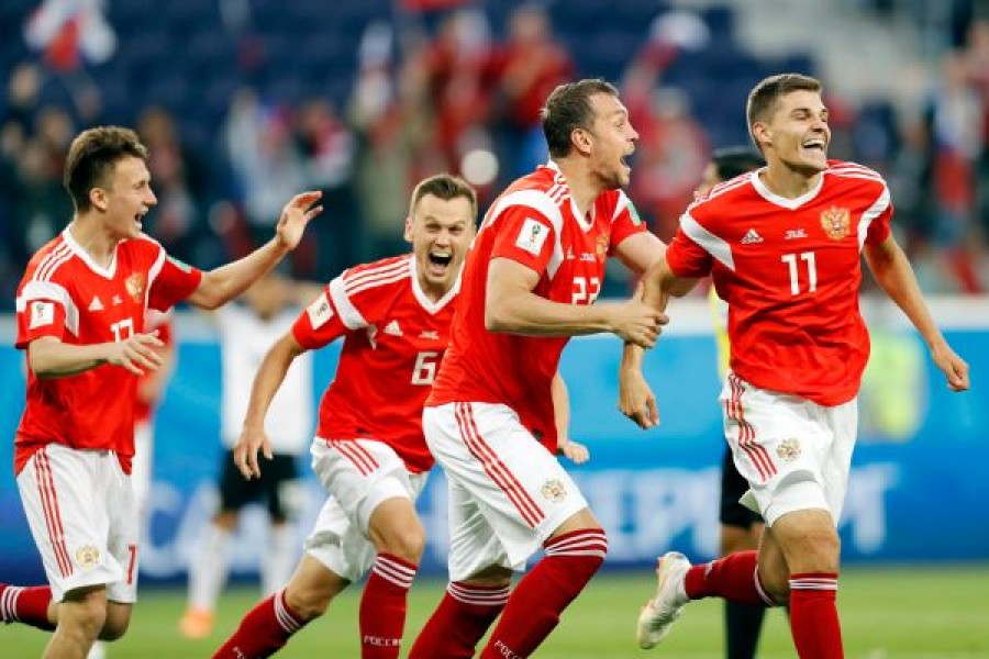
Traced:
<path fill-rule="evenodd" d="M 131 484 L 137 379 L 160 366 L 145 311 L 180 300 L 214 309 L 298 245 L 319 192 L 286 204 L 275 237 L 202 272 L 141 232 L 156 199 L 133 131 L 97 127 L 69 147 L 76 213 L 18 289 L 16 347 L 27 404 L 14 442 L 18 488 L 48 587 L 0 585 L 0 618 L 54 629 L 46 656 L 85 657 L 127 628 L 136 600 L 138 515 Z"/>

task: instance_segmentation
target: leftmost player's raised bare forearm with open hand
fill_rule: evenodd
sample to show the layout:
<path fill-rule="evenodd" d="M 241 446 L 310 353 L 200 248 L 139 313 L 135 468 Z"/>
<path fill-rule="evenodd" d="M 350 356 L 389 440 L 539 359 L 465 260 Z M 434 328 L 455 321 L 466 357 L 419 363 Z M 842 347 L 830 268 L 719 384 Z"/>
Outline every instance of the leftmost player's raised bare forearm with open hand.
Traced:
<path fill-rule="evenodd" d="M 203 309 L 216 309 L 243 293 L 299 245 L 305 226 L 323 211 L 323 206 L 313 205 L 320 197 L 322 192 L 295 196 L 281 210 L 275 237 L 244 258 L 203 272 L 189 302 Z"/>

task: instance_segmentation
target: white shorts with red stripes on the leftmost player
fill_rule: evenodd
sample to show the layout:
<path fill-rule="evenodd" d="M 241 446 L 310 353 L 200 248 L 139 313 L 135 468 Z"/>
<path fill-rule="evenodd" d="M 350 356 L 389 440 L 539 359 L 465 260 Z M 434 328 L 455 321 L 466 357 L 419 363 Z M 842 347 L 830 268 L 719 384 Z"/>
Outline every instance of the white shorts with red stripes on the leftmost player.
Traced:
<path fill-rule="evenodd" d="M 105 584 L 107 597 L 137 599 L 137 511 L 116 454 L 49 444 L 18 474 L 52 599 Z"/>

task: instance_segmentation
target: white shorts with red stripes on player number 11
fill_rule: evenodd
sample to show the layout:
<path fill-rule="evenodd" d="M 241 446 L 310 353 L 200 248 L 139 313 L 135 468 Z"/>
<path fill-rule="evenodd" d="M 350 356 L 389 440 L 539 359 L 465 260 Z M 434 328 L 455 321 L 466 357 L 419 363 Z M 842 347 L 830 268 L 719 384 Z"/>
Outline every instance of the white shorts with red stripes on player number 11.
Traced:
<path fill-rule="evenodd" d="M 741 502 L 773 524 L 823 509 L 837 525 L 858 428 L 853 399 L 835 406 L 758 389 L 732 372 L 719 396 L 735 467 L 748 481 Z"/>

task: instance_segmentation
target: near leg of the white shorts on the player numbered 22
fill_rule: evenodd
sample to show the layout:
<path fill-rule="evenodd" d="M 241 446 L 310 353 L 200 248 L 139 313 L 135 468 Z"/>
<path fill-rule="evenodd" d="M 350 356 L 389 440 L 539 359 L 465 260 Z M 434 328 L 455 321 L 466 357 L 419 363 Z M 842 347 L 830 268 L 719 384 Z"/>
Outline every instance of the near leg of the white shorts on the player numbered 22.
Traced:
<path fill-rule="evenodd" d="M 524 562 L 588 507 L 556 457 L 504 405 L 427 407 L 423 426 L 447 478 L 477 504 L 476 513 L 501 541 L 510 565 Z M 473 520 L 468 516 L 467 524 Z"/>

